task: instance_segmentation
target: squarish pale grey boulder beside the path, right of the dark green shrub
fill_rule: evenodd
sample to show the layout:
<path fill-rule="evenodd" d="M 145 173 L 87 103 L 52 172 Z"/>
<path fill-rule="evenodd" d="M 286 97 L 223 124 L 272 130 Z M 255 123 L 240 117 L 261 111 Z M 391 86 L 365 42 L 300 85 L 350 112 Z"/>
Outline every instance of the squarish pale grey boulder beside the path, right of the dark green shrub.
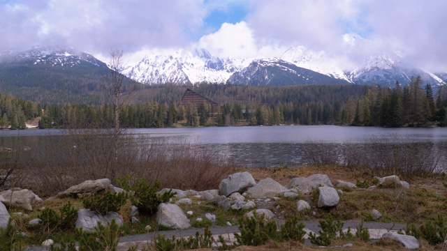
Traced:
<path fill-rule="evenodd" d="M 172 227 L 173 229 L 187 229 L 191 227 L 191 223 L 182 208 L 176 204 L 161 203 L 156 212 L 156 222 L 159 225 Z"/>

